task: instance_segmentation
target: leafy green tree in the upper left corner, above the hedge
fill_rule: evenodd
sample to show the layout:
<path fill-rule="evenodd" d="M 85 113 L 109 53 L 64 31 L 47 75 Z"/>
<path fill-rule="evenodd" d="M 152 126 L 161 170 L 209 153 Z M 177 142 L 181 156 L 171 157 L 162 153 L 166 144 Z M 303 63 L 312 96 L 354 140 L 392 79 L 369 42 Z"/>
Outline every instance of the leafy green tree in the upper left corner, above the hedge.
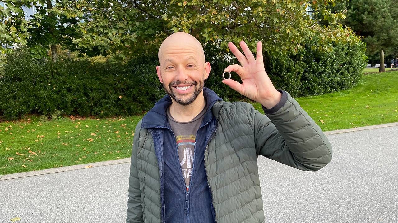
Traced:
<path fill-rule="evenodd" d="M 76 26 L 84 14 L 79 7 L 85 2 L 72 0 L 3 0 L 0 6 L 0 42 L 3 46 L 27 45 L 35 54 L 47 54 L 51 47 L 57 59 L 57 44 L 74 49 L 72 39 L 79 38 Z M 35 8 L 27 16 L 24 8 Z M 3 48 L 2 51 L 10 52 Z"/>

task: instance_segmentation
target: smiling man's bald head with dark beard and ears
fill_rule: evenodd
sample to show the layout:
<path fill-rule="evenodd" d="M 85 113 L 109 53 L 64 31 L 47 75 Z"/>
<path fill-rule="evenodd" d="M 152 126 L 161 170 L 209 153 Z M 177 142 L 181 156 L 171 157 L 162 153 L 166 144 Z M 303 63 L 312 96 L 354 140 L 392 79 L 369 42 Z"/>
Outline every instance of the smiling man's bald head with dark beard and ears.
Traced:
<path fill-rule="evenodd" d="M 166 93 L 181 105 L 195 101 L 210 73 L 201 43 L 188 33 L 174 33 L 162 42 L 158 56 L 156 73 Z"/>

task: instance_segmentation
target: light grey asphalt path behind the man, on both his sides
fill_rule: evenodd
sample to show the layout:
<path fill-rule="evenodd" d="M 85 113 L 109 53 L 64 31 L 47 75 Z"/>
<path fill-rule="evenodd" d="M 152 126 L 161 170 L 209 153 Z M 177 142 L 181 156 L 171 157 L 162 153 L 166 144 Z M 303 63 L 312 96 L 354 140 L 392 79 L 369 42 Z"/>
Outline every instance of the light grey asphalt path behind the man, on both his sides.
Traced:
<path fill-rule="evenodd" d="M 397 223 L 398 126 L 328 135 L 305 172 L 258 159 L 267 223 Z M 0 181 L 0 223 L 124 223 L 130 163 Z"/>

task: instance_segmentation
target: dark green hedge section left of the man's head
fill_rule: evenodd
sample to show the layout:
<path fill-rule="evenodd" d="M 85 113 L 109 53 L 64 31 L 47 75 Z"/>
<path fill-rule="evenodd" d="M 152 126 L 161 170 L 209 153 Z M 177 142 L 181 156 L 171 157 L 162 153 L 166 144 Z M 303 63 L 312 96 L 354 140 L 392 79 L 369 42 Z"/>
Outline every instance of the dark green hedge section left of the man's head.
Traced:
<path fill-rule="evenodd" d="M 33 59 L 26 50 L 8 56 L 0 88 L 5 119 L 57 111 L 98 117 L 139 114 L 164 94 L 153 65 L 69 58 L 52 62 Z"/>

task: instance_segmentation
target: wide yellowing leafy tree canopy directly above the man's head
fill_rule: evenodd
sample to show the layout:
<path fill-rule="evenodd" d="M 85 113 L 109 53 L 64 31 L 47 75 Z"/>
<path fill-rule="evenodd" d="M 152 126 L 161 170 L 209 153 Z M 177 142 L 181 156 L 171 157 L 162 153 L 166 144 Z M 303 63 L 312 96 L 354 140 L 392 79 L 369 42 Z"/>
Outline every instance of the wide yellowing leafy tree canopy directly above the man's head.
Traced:
<path fill-rule="evenodd" d="M 83 9 L 90 14 L 90 21 L 80 24 L 85 35 L 74 42 L 82 48 L 133 58 L 156 54 L 159 41 L 178 31 L 225 50 L 229 41 L 245 38 L 254 46 L 262 40 L 272 55 L 297 52 L 304 38 L 311 36 L 321 42 L 357 42 L 349 38 L 350 30 L 337 23 L 344 15 L 326 8 L 334 1 L 310 2 L 330 21 L 326 28 L 306 15 L 304 0 L 93 0 Z"/>

